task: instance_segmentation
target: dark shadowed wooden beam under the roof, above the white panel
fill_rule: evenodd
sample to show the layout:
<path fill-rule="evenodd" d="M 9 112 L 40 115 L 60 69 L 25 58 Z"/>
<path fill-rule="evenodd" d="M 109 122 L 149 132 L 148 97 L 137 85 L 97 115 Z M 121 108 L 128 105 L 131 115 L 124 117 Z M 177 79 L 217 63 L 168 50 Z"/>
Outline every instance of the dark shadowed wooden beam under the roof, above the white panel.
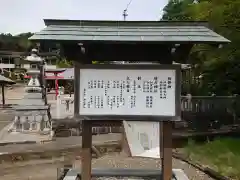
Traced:
<path fill-rule="evenodd" d="M 159 61 L 171 64 L 171 45 L 155 44 L 99 44 L 89 45 L 87 56 L 98 61 Z"/>

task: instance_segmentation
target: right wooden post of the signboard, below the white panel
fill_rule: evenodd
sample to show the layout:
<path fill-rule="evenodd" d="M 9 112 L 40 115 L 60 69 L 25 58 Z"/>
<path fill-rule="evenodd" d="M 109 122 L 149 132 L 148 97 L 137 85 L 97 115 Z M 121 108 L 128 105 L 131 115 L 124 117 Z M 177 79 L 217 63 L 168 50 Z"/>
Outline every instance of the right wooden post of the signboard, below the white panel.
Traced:
<path fill-rule="evenodd" d="M 162 123 L 162 179 L 172 179 L 172 122 L 163 121 Z M 161 148 L 160 148 L 161 149 Z"/>

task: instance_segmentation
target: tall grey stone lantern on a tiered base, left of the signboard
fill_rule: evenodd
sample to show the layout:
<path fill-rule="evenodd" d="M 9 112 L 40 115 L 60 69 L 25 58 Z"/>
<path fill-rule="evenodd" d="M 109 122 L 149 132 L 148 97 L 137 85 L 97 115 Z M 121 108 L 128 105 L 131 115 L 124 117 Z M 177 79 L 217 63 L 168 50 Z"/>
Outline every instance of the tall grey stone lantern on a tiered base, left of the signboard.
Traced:
<path fill-rule="evenodd" d="M 30 64 L 27 74 L 31 78 L 25 87 L 24 98 L 15 107 L 16 115 L 10 131 L 50 133 L 51 115 L 44 86 L 44 60 L 37 55 L 36 49 L 25 60 Z"/>

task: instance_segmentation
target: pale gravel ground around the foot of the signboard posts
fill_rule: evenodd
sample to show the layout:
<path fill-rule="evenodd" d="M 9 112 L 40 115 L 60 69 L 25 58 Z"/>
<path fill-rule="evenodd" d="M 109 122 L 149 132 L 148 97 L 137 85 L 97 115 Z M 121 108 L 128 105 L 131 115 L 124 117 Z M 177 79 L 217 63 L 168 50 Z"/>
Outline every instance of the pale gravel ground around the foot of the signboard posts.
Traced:
<path fill-rule="evenodd" d="M 35 160 L 31 162 L 19 162 L 16 164 L 0 164 L 0 180 L 56 180 L 57 168 L 63 166 L 61 160 Z M 113 153 L 98 159 L 93 159 L 93 168 L 159 168 L 160 161 L 149 158 L 130 158 L 123 154 Z M 74 166 L 78 168 L 80 160 L 76 160 Z M 190 180 L 213 180 L 204 173 L 196 170 L 188 164 L 173 159 L 173 168 L 183 169 Z M 130 178 L 130 177 L 129 177 Z M 94 178 L 96 179 L 96 178 Z M 97 178 L 97 179 L 103 179 Z M 107 178 L 116 179 L 116 178 Z M 126 178 L 122 178 L 126 179 Z M 133 178 L 131 178 L 133 179 Z"/>

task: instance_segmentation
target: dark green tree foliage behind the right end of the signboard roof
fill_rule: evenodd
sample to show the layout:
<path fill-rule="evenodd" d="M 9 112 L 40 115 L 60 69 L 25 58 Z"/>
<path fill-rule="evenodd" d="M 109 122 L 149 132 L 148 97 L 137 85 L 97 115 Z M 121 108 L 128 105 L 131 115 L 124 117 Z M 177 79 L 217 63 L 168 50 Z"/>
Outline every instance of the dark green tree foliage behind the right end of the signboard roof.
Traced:
<path fill-rule="evenodd" d="M 203 75 L 198 93 L 240 93 L 239 0 L 170 0 L 164 8 L 162 20 L 208 21 L 214 31 L 231 40 L 221 49 L 207 45 L 195 46 L 190 60 L 197 64 L 194 74 Z"/>

